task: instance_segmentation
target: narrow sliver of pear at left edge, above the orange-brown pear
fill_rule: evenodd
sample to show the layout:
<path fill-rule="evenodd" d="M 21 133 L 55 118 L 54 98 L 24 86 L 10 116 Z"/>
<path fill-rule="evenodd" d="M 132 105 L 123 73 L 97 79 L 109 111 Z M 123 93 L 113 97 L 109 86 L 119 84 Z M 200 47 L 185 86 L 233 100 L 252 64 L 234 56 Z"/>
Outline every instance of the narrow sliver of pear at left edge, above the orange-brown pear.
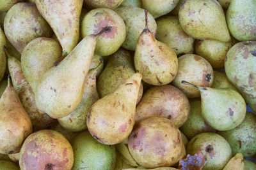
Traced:
<path fill-rule="evenodd" d="M 4 46 L 6 46 L 6 38 L 3 30 L 0 27 L 0 81 L 3 78 L 6 69 L 6 55 L 4 53 Z"/>

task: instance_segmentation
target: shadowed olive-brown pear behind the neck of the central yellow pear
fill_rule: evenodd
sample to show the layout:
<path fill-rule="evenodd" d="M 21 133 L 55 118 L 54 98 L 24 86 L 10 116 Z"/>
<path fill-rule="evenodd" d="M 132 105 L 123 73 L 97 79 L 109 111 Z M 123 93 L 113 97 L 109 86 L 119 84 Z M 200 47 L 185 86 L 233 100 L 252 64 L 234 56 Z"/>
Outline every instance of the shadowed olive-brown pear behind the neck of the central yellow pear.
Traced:
<path fill-rule="evenodd" d="M 104 97 L 114 92 L 122 83 L 135 73 L 132 65 L 132 57 L 123 48 L 111 55 L 106 67 L 99 76 L 97 89 L 100 97 Z M 137 103 L 140 102 L 143 92 L 143 85 L 140 85 L 140 91 Z"/>

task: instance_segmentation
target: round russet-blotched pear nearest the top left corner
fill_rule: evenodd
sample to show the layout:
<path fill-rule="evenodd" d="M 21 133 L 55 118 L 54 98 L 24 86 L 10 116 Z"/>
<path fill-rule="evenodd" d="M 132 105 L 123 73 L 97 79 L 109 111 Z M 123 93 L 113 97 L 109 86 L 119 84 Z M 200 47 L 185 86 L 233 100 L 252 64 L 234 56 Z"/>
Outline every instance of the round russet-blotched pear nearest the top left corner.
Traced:
<path fill-rule="evenodd" d="M 21 53 L 28 43 L 38 37 L 52 36 L 52 29 L 40 15 L 35 4 L 17 3 L 6 14 L 4 32 Z"/>

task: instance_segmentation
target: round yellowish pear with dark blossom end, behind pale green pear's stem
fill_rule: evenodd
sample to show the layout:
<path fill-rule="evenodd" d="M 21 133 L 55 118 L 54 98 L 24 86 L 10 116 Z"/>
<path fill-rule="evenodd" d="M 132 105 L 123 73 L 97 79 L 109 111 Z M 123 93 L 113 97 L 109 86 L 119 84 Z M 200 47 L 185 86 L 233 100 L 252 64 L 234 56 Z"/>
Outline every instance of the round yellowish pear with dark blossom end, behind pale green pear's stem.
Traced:
<path fill-rule="evenodd" d="M 188 98 L 200 97 L 200 91 L 181 83 L 189 81 L 198 86 L 211 87 L 214 74 L 211 64 L 203 57 L 195 54 L 185 54 L 179 57 L 179 69 L 172 85 L 179 88 Z"/>

